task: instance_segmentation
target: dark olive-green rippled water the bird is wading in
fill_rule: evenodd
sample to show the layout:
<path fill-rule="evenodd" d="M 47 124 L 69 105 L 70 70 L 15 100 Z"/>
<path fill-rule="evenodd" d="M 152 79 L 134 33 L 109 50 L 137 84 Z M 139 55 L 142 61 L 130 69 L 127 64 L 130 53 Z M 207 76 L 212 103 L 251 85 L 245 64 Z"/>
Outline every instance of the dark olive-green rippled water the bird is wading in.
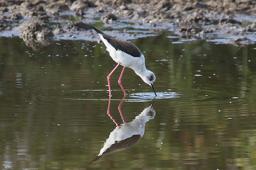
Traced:
<path fill-rule="evenodd" d="M 158 96 L 126 69 L 121 100 L 120 67 L 110 103 L 116 63 L 103 45 L 53 41 L 36 52 L 1 37 L 0 168 L 255 169 L 256 46 L 167 35 L 132 41 Z"/>

